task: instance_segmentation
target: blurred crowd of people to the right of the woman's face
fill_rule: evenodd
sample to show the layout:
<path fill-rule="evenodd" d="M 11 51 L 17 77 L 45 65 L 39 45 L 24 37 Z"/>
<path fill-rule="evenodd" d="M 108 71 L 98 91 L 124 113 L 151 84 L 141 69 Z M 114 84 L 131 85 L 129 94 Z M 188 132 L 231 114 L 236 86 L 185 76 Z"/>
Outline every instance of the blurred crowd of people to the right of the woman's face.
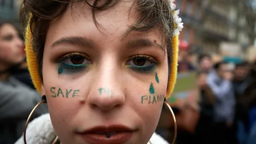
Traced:
<path fill-rule="evenodd" d="M 177 143 L 255 143 L 256 62 L 230 63 L 211 54 L 199 54 L 193 62 L 193 55 L 189 45 L 181 42 L 178 73 L 197 71 L 201 100 L 199 109 L 173 108 L 178 124 Z M 169 131 L 173 135 L 173 125 Z M 162 135 L 173 140 L 172 136 Z"/>

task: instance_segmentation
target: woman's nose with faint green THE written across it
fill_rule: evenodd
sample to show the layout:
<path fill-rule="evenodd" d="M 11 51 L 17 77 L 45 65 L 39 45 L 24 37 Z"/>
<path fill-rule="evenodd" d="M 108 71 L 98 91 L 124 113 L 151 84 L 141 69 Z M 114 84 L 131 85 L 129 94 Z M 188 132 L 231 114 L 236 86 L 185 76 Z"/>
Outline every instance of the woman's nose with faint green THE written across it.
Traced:
<path fill-rule="evenodd" d="M 121 107 L 125 102 L 121 70 L 117 70 L 113 65 L 105 66 L 99 71 L 100 73 L 94 75 L 94 84 L 92 84 L 87 102 L 93 108 L 99 108 L 102 111 Z"/>

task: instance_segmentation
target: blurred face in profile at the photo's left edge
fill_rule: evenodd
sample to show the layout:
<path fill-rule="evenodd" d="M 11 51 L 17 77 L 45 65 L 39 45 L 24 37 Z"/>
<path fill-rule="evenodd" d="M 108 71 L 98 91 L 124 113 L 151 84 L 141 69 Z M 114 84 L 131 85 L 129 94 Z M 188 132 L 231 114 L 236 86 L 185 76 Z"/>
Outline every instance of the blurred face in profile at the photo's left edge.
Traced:
<path fill-rule="evenodd" d="M 11 66 L 21 62 L 24 59 L 23 46 L 18 31 L 12 25 L 0 27 L 0 63 Z"/>

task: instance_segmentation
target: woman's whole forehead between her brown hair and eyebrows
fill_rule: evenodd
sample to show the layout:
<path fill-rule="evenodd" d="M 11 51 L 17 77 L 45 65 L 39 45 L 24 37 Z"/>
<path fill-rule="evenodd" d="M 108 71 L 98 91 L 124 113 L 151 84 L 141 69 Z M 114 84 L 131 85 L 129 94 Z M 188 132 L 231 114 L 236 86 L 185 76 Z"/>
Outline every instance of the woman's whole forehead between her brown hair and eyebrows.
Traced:
<path fill-rule="evenodd" d="M 84 37 L 92 39 L 94 43 L 109 44 L 109 46 L 113 46 L 113 43 L 119 44 L 130 26 L 140 17 L 133 4 L 134 1 L 121 1 L 110 9 L 95 13 L 97 20 L 95 24 L 91 6 L 85 3 L 74 3 L 60 17 L 50 22 L 45 46 L 49 47 L 49 44 L 63 37 Z M 159 44 L 161 34 L 157 27 L 148 31 L 133 31 L 126 37 L 151 39 L 162 47 Z"/>

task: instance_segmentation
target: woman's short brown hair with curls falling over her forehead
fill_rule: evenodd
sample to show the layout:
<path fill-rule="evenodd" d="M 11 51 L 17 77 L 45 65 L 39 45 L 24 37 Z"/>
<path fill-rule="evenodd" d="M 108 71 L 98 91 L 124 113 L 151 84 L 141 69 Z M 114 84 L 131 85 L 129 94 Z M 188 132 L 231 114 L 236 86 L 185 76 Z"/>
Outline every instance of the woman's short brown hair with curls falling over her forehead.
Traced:
<path fill-rule="evenodd" d="M 76 2 L 84 2 L 92 7 L 93 20 L 97 25 L 95 12 L 107 10 L 120 2 L 120 0 L 106 0 L 103 4 L 99 4 L 100 0 L 93 0 L 92 3 L 88 0 L 24 0 L 21 5 L 20 18 L 24 28 L 26 25 L 30 26 L 31 43 L 37 57 L 38 71 L 42 80 L 43 51 L 49 23 L 63 14 L 70 4 L 72 6 Z M 136 6 L 141 17 L 130 26 L 127 34 L 131 33 L 131 31 L 147 31 L 157 26 L 162 34 L 162 45 L 167 46 L 170 71 L 174 31 L 170 0 L 137 0 L 134 1 L 133 6 Z M 29 17 L 30 21 L 27 23 Z"/>

